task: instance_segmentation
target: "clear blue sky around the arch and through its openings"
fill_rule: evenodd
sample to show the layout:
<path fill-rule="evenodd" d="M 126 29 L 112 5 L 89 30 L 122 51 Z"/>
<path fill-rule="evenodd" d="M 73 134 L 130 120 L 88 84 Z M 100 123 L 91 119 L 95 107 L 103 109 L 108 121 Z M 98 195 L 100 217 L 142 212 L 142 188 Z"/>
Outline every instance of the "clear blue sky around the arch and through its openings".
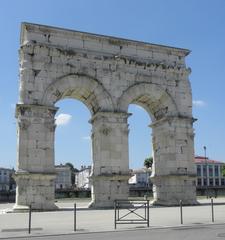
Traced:
<path fill-rule="evenodd" d="M 15 104 L 21 22 L 188 48 L 192 68 L 195 154 L 225 161 L 224 0 L 2 0 L 0 1 L 0 166 L 16 165 Z M 91 160 L 88 109 L 76 100 L 57 103 L 56 163 L 75 167 Z M 151 155 L 147 113 L 130 106 L 130 167 Z"/>

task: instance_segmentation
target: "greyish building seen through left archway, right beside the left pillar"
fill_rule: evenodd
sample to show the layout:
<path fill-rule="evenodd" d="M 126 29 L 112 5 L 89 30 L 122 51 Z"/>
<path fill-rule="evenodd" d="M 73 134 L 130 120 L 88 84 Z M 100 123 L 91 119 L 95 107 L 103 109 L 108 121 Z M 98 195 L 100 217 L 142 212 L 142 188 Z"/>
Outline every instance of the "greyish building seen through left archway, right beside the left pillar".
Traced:
<path fill-rule="evenodd" d="M 71 169 L 66 165 L 55 166 L 56 179 L 55 179 L 55 189 L 69 189 L 72 187 L 71 182 Z"/>

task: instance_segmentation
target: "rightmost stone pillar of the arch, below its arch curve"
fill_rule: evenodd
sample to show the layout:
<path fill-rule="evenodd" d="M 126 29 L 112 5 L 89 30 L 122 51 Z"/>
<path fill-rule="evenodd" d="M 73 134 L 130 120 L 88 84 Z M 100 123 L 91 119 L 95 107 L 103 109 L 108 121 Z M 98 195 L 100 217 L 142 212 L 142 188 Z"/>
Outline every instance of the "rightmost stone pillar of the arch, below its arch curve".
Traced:
<path fill-rule="evenodd" d="M 154 122 L 153 204 L 197 204 L 193 119 L 167 117 Z"/>

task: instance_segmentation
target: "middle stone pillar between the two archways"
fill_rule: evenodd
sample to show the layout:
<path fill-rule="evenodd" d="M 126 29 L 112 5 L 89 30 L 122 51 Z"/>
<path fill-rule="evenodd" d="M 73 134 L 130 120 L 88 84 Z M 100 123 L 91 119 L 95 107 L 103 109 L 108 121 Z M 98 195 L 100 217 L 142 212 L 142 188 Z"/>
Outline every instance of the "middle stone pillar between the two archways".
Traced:
<path fill-rule="evenodd" d="M 90 207 L 113 207 L 115 199 L 127 199 L 128 124 L 126 113 L 98 112 L 91 119 L 93 168 Z"/>

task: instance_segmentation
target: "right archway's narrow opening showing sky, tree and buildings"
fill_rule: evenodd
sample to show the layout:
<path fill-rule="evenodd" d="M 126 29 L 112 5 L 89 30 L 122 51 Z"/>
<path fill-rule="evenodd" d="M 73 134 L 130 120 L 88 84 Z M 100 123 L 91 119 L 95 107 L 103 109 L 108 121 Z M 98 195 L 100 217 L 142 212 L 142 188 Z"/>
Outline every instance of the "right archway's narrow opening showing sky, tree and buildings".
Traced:
<path fill-rule="evenodd" d="M 152 196 L 150 176 L 152 166 L 147 166 L 145 160 L 152 158 L 151 118 L 148 112 L 138 104 L 130 104 L 129 123 L 129 168 L 132 177 L 129 179 L 130 197 Z"/>

